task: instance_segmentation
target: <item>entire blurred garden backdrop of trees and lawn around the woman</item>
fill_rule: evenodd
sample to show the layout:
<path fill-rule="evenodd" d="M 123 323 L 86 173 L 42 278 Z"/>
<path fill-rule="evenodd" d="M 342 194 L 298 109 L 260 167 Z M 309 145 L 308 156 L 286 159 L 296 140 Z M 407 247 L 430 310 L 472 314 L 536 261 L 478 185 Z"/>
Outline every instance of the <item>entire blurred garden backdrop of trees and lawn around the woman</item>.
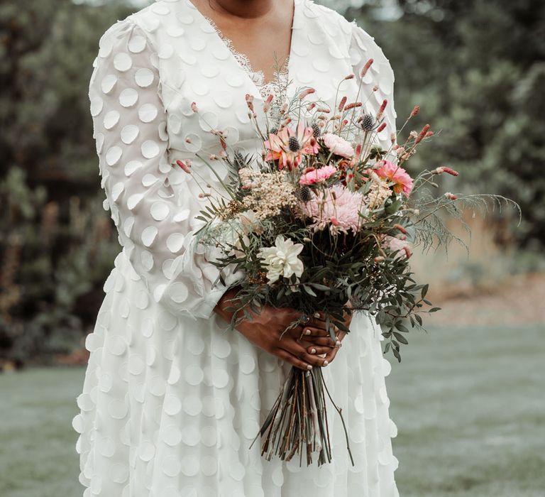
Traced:
<path fill-rule="evenodd" d="M 0 495 L 78 496 L 70 421 L 119 244 L 87 87 L 106 28 L 149 2 L 0 0 Z M 414 255 L 443 307 L 391 356 L 403 497 L 545 496 L 545 3 L 316 1 L 395 71 L 398 125 L 437 132 L 409 168 L 522 207 L 466 212 L 470 246 Z"/>

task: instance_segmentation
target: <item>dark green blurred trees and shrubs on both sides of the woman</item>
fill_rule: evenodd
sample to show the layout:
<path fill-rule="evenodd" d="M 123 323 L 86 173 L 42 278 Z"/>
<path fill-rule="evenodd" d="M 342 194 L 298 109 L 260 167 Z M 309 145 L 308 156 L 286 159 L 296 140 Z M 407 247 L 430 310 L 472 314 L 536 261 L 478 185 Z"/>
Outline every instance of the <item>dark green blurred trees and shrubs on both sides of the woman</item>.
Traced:
<path fill-rule="evenodd" d="M 124 0 L 0 2 L 3 354 L 24 359 L 31 350 L 67 348 L 63 337 L 79 338 L 96 317 L 117 242 L 100 207 L 88 83 L 100 35 L 136 9 Z M 373 0 L 346 17 L 358 17 L 392 62 L 397 114 L 419 103 L 415 129 L 429 121 L 443 130 L 434 147 L 409 161 L 411 172 L 448 158 L 468 193 L 516 200 L 524 217 L 514 234 L 539 249 L 545 4 L 400 0 L 390 20 L 384 12 L 383 2 Z M 451 179 L 441 187 L 448 190 Z M 42 247 L 41 226 L 50 217 L 55 234 Z M 82 234 L 74 219 L 85 219 L 88 231 Z M 93 230 L 104 230 L 104 238 Z M 46 329 L 50 338 L 43 340 Z"/>

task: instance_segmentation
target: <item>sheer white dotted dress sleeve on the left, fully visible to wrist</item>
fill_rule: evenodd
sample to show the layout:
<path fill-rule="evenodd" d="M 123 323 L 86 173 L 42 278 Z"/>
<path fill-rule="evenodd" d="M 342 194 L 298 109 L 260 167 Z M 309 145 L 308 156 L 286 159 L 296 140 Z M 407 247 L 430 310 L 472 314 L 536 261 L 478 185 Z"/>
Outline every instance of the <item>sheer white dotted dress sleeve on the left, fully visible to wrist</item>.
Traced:
<path fill-rule="evenodd" d="M 99 47 L 89 99 L 104 208 L 153 300 L 175 315 L 209 318 L 228 287 L 216 282 L 210 251 L 194 244 L 199 202 L 187 182 L 169 182 L 156 50 L 131 18 L 111 26 Z"/>

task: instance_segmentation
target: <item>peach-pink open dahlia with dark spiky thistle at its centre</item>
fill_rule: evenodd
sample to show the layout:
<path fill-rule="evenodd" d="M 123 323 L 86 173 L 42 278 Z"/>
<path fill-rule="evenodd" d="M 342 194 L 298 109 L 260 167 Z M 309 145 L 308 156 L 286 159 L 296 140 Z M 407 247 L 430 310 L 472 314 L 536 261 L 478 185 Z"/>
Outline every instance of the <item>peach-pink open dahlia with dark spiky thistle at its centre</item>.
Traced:
<path fill-rule="evenodd" d="M 304 154 L 318 153 L 314 130 L 302 121 L 295 130 L 285 126 L 276 134 L 269 133 L 265 148 L 268 149 L 265 160 L 279 160 L 278 169 L 287 167 L 293 170 L 299 166 Z"/>

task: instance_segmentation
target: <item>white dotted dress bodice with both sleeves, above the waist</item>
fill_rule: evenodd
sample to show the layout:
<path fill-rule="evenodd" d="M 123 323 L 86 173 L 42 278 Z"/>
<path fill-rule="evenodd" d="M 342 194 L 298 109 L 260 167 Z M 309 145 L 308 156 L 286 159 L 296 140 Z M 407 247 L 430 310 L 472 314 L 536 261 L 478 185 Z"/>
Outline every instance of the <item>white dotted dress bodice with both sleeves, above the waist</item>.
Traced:
<path fill-rule="evenodd" d="M 369 59 L 373 64 L 361 77 Z M 288 84 L 276 95 L 278 107 L 309 87 L 314 93 L 305 102 L 330 115 L 343 95 L 348 103 L 362 101 L 362 110 L 372 114 L 387 99 L 387 126 L 378 139 L 390 146 L 392 68 L 354 21 L 312 0 L 294 0 L 290 55 L 281 77 Z M 214 157 L 224 148 L 243 155 L 262 151 L 255 122 L 265 129 L 270 121 L 263 112 L 267 86 L 189 0 L 156 1 L 101 37 L 89 98 L 104 207 L 136 273 L 175 314 L 206 317 L 224 293 L 214 284 L 218 272 L 208 262 L 213 254 L 194 245 L 192 234 L 202 226 L 198 217 L 207 195 L 221 195 L 227 175 Z M 255 116 L 247 97 L 253 97 Z M 189 160 L 192 175 L 177 160 Z"/>

